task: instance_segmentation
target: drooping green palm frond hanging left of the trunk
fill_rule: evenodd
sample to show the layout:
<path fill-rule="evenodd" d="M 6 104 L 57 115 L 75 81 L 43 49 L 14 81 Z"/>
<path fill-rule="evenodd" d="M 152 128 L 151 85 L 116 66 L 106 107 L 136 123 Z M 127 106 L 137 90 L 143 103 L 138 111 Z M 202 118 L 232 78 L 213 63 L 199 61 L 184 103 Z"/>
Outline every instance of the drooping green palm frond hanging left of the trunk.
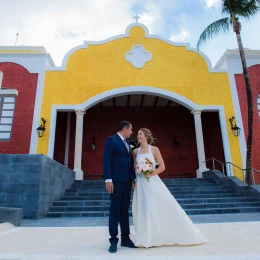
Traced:
<path fill-rule="evenodd" d="M 229 31 L 229 28 L 231 27 L 231 21 L 230 18 L 226 17 L 223 19 L 220 19 L 212 24 L 210 24 L 200 35 L 198 43 L 197 43 L 197 49 L 199 51 L 202 43 L 205 43 L 209 38 L 212 38 L 213 36 L 217 36 L 220 33 L 227 33 Z"/>

